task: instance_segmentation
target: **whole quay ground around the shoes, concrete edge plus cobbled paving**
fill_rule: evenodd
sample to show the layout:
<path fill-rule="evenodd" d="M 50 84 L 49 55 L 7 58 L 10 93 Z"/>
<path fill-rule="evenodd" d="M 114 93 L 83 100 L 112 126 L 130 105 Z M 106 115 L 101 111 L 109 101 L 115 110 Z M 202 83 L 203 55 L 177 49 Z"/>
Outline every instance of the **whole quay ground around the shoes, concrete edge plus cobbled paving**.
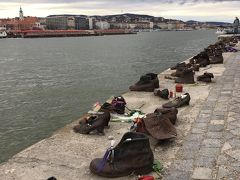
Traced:
<path fill-rule="evenodd" d="M 191 95 L 190 105 L 179 108 L 176 139 L 161 143 L 151 140 L 154 157 L 165 171 L 163 179 L 239 179 L 240 177 L 240 52 L 224 53 L 224 64 L 201 68 L 214 74 L 210 84 L 184 85 Z M 164 79 L 172 71 L 159 74 L 160 88 L 174 90 L 175 83 Z M 137 77 L 136 77 L 137 78 Z M 136 79 L 137 80 L 137 79 Z M 131 109 L 151 113 L 167 100 L 148 92 L 123 94 Z M 92 159 L 102 157 L 114 136 L 116 143 L 130 124 L 111 122 L 105 136 L 82 135 L 72 131 L 78 121 L 55 132 L 0 165 L 3 180 L 102 180 L 90 173 Z M 156 173 L 151 175 L 157 177 Z M 137 179 L 137 176 L 117 180 Z"/>

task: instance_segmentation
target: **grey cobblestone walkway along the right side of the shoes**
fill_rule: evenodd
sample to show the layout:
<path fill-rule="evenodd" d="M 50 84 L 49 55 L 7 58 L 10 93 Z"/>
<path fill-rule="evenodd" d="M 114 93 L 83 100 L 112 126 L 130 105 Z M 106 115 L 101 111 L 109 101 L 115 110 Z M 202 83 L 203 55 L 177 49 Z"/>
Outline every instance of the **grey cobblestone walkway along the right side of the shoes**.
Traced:
<path fill-rule="evenodd" d="M 240 179 L 240 53 L 234 56 L 211 84 L 164 179 Z"/>

